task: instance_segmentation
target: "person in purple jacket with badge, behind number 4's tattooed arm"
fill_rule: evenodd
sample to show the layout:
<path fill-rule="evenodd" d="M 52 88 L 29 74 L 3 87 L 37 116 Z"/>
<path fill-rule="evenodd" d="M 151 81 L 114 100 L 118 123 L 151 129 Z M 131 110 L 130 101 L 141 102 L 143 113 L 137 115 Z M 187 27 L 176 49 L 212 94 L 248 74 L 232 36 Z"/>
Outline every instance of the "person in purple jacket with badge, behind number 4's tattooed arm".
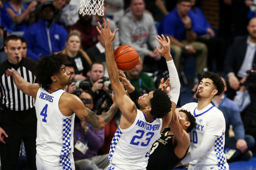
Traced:
<path fill-rule="evenodd" d="M 93 108 L 92 97 L 83 92 L 80 96 L 83 104 L 90 110 Z M 97 150 L 104 142 L 104 129 L 98 131 L 77 117 L 74 124 L 74 163 L 79 170 L 106 170 L 109 165 L 108 154 L 97 156 Z M 82 146 L 82 147 L 81 147 Z"/>

